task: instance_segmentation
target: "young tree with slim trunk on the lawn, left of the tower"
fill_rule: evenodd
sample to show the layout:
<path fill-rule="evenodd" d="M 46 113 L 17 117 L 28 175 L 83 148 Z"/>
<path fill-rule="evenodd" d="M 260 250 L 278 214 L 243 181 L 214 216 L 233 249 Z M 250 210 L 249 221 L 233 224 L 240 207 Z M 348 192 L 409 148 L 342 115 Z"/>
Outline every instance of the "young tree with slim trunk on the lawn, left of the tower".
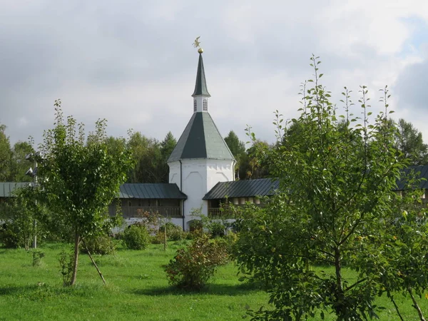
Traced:
<path fill-rule="evenodd" d="M 70 285 L 76 282 L 79 244 L 100 233 L 108 222 L 108 205 L 131 169 L 131 153 L 126 144 L 113 150 L 107 143 L 106 120 L 85 142 L 83 124 L 63 119 L 61 101 L 55 101 L 55 128 L 45 131 L 39 158 L 39 193 L 58 220 L 73 229 L 74 255 Z"/>

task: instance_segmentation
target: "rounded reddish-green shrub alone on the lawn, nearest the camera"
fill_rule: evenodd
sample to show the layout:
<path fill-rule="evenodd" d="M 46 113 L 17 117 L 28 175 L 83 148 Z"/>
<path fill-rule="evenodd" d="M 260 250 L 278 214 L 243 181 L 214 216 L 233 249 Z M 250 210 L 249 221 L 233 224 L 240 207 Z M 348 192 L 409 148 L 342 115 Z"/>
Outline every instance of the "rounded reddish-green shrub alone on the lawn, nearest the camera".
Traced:
<path fill-rule="evenodd" d="M 165 272 L 171 285 L 188 290 L 200 290 L 213 276 L 216 268 L 228 262 L 228 251 L 224 243 L 210 240 L 201 235 L 193 240 L 187 249 L 177 254 L 165 265 Z"/>

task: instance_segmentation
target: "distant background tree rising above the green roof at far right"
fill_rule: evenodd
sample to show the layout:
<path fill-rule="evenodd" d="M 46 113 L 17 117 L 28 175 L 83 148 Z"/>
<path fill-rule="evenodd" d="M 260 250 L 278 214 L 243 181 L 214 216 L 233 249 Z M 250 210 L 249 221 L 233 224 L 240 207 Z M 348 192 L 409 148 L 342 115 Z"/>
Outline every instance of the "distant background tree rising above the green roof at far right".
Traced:
<path fill-rule="evenodd" d="M 422 133 L 414 128 L 412 123 L 402 118 L 399 119 L 397 126 L 395 143 L 404 158 L 409 158 L 413 165 L 428 164 L 428 145 L 424 143 Z"/>

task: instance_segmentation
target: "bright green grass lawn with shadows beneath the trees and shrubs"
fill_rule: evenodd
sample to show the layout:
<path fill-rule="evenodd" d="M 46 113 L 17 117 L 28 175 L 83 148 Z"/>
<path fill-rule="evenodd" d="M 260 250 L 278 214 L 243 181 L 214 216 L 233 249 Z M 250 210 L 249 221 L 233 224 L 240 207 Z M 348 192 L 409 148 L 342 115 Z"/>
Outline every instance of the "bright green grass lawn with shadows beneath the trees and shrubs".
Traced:
<path fill-rule="evenodd" d="M 88 256 L 81 255 L 77 285 L 63 287 L 58 253 L 64 246 L 42 246 L 46 256 L 36 267 L 31 251 L 0 249 L 0 320 L 248 320 L 246 310 L 267 306 L 267 294 L 239 282 L 233 264 L 221 267 L 203 292 L 172 289 L 161 265 L 180 246 L 173 243 L 166 252 L 151 245 L 97 256 L 106 286 Z M 386 307 L 381 320 L 398 320 L 386 298 L 378 301 Z M 409 299 L 397 295 L 397 303 L 404 320 L 419 320 Z M 422 310 L 427 303 L 421 300 Z"/>

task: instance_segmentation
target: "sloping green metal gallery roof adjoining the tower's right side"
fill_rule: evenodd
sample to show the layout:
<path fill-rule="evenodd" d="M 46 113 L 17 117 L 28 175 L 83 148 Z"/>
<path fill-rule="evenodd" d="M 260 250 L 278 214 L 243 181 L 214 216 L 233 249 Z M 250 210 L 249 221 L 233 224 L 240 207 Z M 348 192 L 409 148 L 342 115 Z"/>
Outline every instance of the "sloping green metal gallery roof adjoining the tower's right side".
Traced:
<path fill-rule="evenodd" d="M 223 198 L 248 198 L 273 195 L 280 188 L 277 178 L 260 178 L 258 180 L 235 180 L 219 182 L 205 194 L 203 200 L 221 200 Z"/>

